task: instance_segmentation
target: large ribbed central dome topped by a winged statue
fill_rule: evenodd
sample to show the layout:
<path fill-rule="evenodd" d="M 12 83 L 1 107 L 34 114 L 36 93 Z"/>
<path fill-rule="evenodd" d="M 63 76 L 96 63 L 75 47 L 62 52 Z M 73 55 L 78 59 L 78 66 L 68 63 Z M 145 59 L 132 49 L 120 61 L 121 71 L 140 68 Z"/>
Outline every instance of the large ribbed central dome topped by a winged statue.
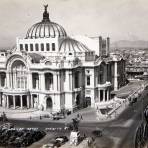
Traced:
<path fill-rule="evenodd" d="M 55 37 L 66 37 L 65 29 L 54 22 L 51 22 L 49 19 L 49 13 L 47 12 L 48 5 L 45 5 L 45 11 L 43 13 L 43 20 L 39 23 L 31 26 L 27 31 L 26 38 L 55 38 Z"/>

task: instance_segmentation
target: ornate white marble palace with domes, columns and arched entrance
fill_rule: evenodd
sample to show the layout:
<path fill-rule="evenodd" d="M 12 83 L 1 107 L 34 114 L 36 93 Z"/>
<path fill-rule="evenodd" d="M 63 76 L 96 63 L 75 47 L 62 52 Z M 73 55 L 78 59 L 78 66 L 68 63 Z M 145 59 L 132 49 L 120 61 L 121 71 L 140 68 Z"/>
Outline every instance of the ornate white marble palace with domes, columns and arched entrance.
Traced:
<path fill-rule="evenodd" d="M 69 37 L 50 20 L 31 26 L 16 47 L 0 51 L 0 105 L 10 109 L 59 111 L 95 107 L 125 84 L 125 62 L 109 53 L 110 39 L 98 39 L 99 54 Z"/>

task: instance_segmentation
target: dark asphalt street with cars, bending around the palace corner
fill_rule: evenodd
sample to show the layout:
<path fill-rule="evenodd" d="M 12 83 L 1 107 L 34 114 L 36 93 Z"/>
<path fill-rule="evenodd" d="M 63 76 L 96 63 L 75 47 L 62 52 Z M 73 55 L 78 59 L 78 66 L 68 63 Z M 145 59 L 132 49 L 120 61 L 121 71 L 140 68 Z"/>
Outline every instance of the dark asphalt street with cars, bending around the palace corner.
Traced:
<path fill-rule="evenodd" d="M 84 133 L 87 136 L 92 136 L 91 132 L 99 127 L 103 130 L 103 137 L 95 140 L 96 145 L 100 147 L 115 147 L 115 148 L 134 148 L 134 136 L 137 126 L 142 121 L 142 98 L 143 108 L 148 104 L 147 90 L 143 92 L 138 101 L 127 109 L 113 121 L 102 123 L 80 123 L 79 129 L 81 134 Z M 43 121 L 23 121 L 23 120 L 11 120 L 16 127 L 33 127 L 40 129 L 47 129 L 50 127 L 64 127 L 63 123 L 43 122 Z M 54 133 L 54 134 L 53 134 Z M 54 137 L 55 135 L 63 134 L 63 132 L 48 132 L 47 139 Z M 64 132 L 69 136 L 69 132 Z M 42 142 L 45 142 L 42 140 Z M 32 147 L 32 146 L 31 146 Z"/>

